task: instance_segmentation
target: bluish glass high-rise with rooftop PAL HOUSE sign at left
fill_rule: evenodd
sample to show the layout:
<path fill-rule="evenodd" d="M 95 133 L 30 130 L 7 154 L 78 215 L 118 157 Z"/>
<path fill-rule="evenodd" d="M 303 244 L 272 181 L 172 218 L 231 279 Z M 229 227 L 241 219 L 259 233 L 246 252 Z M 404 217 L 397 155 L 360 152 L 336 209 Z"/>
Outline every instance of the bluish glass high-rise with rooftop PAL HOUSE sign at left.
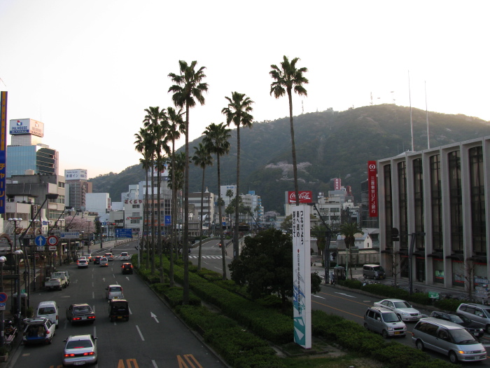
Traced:
<path fill-rule="evenodd" d="M 6 175 L 57 175 L 58 152 L 41 142 L 44 124 L 30 118 L 13 119 L 9 124 L 10 145 L 7 146 Z"/>

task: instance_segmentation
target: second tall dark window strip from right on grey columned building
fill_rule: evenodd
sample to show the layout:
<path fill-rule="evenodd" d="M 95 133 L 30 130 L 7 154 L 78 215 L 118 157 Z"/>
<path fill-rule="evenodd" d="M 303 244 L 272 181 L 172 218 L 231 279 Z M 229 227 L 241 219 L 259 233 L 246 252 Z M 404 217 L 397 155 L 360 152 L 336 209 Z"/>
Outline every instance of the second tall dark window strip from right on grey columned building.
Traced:
<path fill-rule="evenodd" d="M 451 250 L 463 253 L 463 199 L 461 196 L 461 158 L 452 151 L 449 158 L 449 207 L 451 213 Z"/>

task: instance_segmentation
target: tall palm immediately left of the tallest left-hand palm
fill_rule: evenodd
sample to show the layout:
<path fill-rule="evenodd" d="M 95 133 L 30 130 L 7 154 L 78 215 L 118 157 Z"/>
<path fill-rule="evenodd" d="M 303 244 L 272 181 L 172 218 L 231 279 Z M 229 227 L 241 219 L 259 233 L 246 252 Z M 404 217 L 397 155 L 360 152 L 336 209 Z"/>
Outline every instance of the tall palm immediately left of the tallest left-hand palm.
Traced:
<path fill-rule="evenodd" d="M 186 132 L 186 125 L 183 121 L 182 109 L 176 111 L 173 107 L 167 107 L 167 115 L 169 117 L 169 130 L 167 132 L 167 136 L 172 141 L 172 167 L 175 167 L 175 141 L 181 137 L 181 134 Z M 172 182 L 175 182 L 176 177 L 174 177 L 175 171 L 172 170 Z M 177 187 L 172 186 L 172 224 L 170 231 L 170 269 L 169 269 L 169 279 L 170 286 L 174 286 L 174 249 L 177 248 L 177 237 L 176 237 L 176 219 L 177 219 Z"/>

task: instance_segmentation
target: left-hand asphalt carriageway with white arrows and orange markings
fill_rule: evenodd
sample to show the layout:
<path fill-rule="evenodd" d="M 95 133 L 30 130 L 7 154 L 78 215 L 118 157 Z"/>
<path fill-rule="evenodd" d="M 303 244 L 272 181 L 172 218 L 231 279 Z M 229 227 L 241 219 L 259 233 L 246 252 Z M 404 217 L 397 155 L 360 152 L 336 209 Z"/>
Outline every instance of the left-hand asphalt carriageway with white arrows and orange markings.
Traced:
<path fill-rule="evenodd" d="M 97 336 L 99 362 L 95 367 L 163 368 L 163 367 L 226 367 L 218 357 L 197 339 L 186 325 L 158 299 L 137 275 L 123 275 L 120 270 L 120 252 L 136 252 L 136 243 L 113 248 L 116 255 L 109 267 L 90 264 L 78 269 L 76 265 L 59 266 L 68 269 L 70 286 L 62 291 L 35 292 L 31 304 L 55 300 L 59 305 L 59 328 L 50 345 L 20 346 L 10 367 L 62 367 L 63 339 L 73 334 Z M 93 255 L 109 250 L 94 250 Z M 109 322 L 105 287 L 123 286 L 125 299 L 130 303 L 130 320 Z M 70 325 L 66 308 L 73 303 L 88 303 L 97 320 L 93 325 Z"/>

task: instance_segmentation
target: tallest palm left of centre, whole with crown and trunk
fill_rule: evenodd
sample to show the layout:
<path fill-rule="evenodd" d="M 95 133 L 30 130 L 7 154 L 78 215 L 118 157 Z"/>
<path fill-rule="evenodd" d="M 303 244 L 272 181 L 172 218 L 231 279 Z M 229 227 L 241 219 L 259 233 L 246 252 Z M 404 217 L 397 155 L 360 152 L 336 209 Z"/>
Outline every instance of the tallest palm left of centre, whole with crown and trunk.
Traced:
<path fill-rule="evenodd" d="M 183 233 L 183 260 L 184 260 L 184 280 L 183 280 L 183 304 L 189 304 L 189 254 L 188 254 L 188 231 L 189 231 L 189 109 L 195 107 L 196 100 L 204 104 L 203 92 L 207 92 L 207 83 L 202 83 L 206 78 L 205 67 L 195 70 L 197 62 L 193 61 L 190 65 L 183 60 L 179 60 L 180 74 L 170 73 L 169 77 L 175 84 L 169 88 L 172 101 L 176 107 L 186 107 L 186 170 L 184 172 L 184 233 Z"/>

